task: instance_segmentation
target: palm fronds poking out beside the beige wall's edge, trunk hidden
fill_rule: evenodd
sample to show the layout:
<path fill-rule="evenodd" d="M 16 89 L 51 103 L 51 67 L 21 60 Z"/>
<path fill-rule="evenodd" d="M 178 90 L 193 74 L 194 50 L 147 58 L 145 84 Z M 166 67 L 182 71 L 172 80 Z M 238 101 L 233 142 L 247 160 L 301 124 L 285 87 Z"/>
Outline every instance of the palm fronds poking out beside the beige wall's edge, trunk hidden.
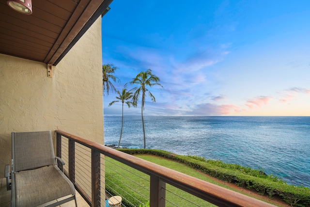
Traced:
<path fill-rule="evenodd" d="M 110 88 L 112 91 L 116 92 L 116 89 L 110 80 L 112 79 L 114 82 L 116 82 L 116 80 L 120 82 L 117 77 L 112 75 L 116 69 L 118 69 L 118 67 L 114 66 L 113 64 L 102 65 L 103 91 L 107 91 L 107 95 L 109 95 Z"/>

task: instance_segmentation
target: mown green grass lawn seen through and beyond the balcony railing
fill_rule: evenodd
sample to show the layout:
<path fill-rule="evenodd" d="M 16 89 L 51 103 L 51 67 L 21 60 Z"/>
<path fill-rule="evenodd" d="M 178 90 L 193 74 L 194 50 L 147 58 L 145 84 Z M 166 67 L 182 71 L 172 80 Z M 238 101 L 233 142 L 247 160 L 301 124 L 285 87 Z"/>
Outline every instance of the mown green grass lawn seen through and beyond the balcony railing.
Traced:
<path fill-rule="evenodd" d="M 224 185 L 222 182 L 217 182 L 215 179 L 212 179 L 207 175 L 204 175 L 201 172 L 194 170 L 182 163 L 175 162 L 170 159 L 159 158 L 153 155 L 136 155 L 136 157 L 148 160 L 150 162 L 162 165 L 172 170 L 179 171 L 186 175 L 191 175 L 201 180 L 235 191 L 234 188 L 230 188 L 227 185 Z M 130 204 L 132 204 L 132 206 L 139 207 L 139 205 L 142 206 L 142 204 L 145 204 L 147 202 L 150 193 L 149 175 L 146 175 L 138 170 L 135 170 L 127 165 L 124 165 L 108 157 L 106 157 L 105 164 L 106 164 L 106 185 L 108 187 L 117 191 L 116 194 L 121 195 L 123 199 L 124 198 L 128 199 L 128 202 L 127 201 L 126 202 L 129 203 L 129 206 Z M 113 184 L 112 182 L 117 182 L 117 185 Z M 175 205 L 180 207 L 214 206 L 200 198 L 197 198 L 196 196 L 193 196 L 180 189 L 177 189 L 171 185 L 166 184 L 166 190 L 167 190 L 166 191 L 167 207 L 174 207 Z"/>

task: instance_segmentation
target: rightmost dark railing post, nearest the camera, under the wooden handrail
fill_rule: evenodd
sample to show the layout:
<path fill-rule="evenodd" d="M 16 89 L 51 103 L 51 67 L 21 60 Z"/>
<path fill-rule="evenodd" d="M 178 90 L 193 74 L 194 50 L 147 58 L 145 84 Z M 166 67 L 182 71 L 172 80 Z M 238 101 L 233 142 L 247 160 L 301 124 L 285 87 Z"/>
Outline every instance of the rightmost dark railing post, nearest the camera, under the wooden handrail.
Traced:
<path fill-rule="evenodd" d="M 166 206 L 166 183 L 156 175 L 150 175 L 150 207 Z"/>

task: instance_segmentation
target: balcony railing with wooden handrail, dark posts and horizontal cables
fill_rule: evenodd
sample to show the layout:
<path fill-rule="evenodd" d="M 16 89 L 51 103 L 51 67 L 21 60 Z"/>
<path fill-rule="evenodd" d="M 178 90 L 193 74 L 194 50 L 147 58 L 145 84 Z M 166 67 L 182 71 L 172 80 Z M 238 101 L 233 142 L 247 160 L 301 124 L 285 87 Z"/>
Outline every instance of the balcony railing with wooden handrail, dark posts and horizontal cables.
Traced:
<path fill-rule="evenodd" d="M 220 207 L 273 206 L 61 130 L 56 130 L 56 133 L 57 156 L 65 158 L 68 162 L 65 173 L 74 183 L 77 191 L 92 207 L 105 206 L 104 156 L 150 176 L 150 207 L 166 206 L 166 184 Z"/>

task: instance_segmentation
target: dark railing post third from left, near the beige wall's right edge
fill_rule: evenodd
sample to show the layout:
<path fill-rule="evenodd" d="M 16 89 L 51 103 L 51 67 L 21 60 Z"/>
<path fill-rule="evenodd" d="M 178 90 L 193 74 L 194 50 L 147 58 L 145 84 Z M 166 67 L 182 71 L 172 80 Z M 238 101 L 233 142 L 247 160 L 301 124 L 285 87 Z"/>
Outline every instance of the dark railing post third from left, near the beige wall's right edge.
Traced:
<path fill-rule="evenodd" d="M 100 152 L 92 149 L 92 207 L 100 203 Z"/>

